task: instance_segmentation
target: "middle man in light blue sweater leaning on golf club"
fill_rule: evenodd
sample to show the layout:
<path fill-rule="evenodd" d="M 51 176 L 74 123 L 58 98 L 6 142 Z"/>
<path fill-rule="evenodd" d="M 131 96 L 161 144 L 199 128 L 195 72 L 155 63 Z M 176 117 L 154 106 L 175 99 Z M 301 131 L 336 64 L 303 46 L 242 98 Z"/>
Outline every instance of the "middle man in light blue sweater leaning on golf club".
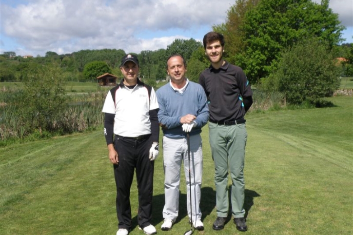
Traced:
<path fill-rule="evenodd" d="M 204 229 L 199 208 L 202 181 L 201 128 L 207 123 L 209 111 L 203 88 L 185 78 L 186 65 L 181 55 L 167 59 L 170 82 L 157 90 L 158 122 L 163 131 L 164 194 L 163 231 L 172 228 L 179 211 L 179 185 L 181 162 L 187 185 L 187 210 L 194 227 Z M 186 134 L 190 135 L 190 170 Z M 191 181 L 190 181 L 191 180 Z M 193 210 L 190 213 L 190 183 Z"/>

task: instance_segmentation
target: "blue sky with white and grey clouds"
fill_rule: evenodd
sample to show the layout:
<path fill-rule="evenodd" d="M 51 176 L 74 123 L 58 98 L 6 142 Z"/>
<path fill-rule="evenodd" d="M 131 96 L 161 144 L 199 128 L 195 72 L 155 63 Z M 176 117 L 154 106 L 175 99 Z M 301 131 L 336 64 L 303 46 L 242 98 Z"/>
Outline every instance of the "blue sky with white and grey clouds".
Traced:
<path fill-rule="evenodd" d="M 313 0 L 320 2 L 320 0 Z M 45 56 L 79 50 L 126 53 L 202 40 L 225 22 L 235 0 L 0 0 L 0 54 Z M 330 0 L 344 42 L 353 43 L 353 0 Z"/>

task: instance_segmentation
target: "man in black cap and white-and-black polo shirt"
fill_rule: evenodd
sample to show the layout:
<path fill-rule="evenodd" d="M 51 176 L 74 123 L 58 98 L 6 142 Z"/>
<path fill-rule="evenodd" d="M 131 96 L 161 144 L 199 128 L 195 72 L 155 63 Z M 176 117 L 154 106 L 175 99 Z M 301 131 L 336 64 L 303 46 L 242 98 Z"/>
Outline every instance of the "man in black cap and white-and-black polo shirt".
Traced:
<path fill-rule="evenodd" d="M 154 160 L 159 146 L 158 103 L 154 89 L 137 78 L 139 64 L 135 55 L 125 55 L 120 70 L 124 79 L 108 92 L 102 110 L 104 135 L 117 186 L 117 235 L 128 235 L 131 229 L 130 188 L 135 169 L 137 222 L 145 234 L 152 235 L 157 233 L 150 221 Z"/>

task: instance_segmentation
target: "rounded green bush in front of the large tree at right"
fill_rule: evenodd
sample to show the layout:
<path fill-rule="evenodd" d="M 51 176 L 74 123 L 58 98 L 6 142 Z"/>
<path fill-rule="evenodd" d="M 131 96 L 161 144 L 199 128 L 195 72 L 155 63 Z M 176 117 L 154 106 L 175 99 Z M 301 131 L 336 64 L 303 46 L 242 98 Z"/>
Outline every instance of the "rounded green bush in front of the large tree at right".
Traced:
<path fill-rule="evenodd" d="M 273 77 L 292 104 L 332 96 L 340 83 L 333 50 L 320 39 L 303 40 L 287 50 Z"/>

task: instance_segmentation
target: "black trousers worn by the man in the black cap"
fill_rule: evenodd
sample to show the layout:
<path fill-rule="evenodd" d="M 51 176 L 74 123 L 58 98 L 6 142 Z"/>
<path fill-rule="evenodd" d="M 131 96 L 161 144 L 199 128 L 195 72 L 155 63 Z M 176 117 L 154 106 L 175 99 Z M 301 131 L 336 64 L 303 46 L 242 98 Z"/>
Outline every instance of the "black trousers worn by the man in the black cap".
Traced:
<path fill-rule="evenodd" d="M 134 140 L 116 137 L 115 150 L 119 164 L 114 164 L 114 177 L 117 185 L 117 215 L 119 229 L 131 229 L 130 188 L 136 169 L 138 189 L 137 222 L 141 228 L 150 225 L 152 219 L 154 161 L 150 161 L 149 150 L 152 138 Z"/>

